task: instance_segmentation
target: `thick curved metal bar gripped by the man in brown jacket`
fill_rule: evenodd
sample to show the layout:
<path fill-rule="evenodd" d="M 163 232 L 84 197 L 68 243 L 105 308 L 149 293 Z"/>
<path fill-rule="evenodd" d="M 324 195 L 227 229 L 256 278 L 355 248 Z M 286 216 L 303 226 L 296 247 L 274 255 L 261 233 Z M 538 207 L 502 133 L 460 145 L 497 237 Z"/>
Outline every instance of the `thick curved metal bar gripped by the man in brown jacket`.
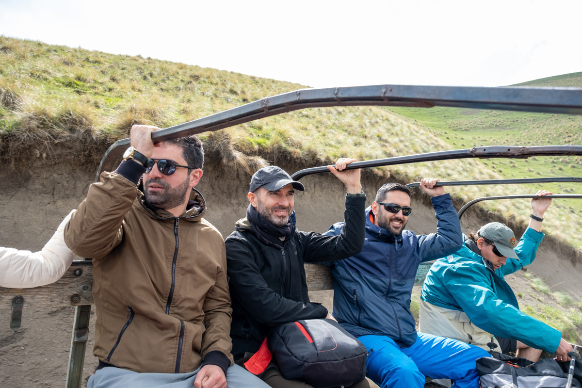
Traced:
<path fill-rule="evenodd" d="M 297 109 L 322 106 L 456 106 L 459 108 L 582 114 L 582 88 L 375 85 L 300 89 L 154 132 L 155 141 L 216 131 Z M 129 138 L 107 149 L 97 170 L 111 171 Z M 125 147 L 124 147 L 125 146 Z"/>

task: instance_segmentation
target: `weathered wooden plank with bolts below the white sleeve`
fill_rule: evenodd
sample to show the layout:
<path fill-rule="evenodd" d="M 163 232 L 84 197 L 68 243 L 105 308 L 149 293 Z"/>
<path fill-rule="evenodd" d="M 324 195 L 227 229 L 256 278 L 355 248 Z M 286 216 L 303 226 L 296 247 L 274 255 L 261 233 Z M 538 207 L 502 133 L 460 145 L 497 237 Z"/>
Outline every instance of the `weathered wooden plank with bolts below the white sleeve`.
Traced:
<path fill-rule="evenodd" d="M 0 287 L 0 308 L 10 311 L 12 299 L 22 296 L 23 310 L 30 305 L 47 308 L 93 304 L 93 265 L 91 261 L 74 261 L 65 275 L 55 283 L 32 289 Z"/>

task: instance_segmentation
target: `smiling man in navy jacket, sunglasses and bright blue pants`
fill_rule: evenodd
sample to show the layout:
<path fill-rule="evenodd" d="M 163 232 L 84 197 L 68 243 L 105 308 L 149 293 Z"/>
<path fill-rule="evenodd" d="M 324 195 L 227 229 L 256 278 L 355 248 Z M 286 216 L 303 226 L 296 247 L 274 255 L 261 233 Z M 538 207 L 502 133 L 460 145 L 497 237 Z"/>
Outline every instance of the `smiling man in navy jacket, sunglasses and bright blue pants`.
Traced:
<path fill-rule="evenodd" d="M 462 233 L 449 194 L 439 179 L 423 179 L 437 215 L 437 233 L 417 236 L 405 230 L 412 211 L 410 190 L 387 183 L 366 209 L 363 250 L 330 263 L 333 315 L 368 348 L 367 376 L 382 388 L 423 387 L 425 376 L 451 379 L 456 387 L 477 387 L 475 359 L 489 354 L 461 341 L 417 333 L 410 312 L 420 262 L 458 250 Z M 336 223 L 326 234 L 339 234 Z"/>

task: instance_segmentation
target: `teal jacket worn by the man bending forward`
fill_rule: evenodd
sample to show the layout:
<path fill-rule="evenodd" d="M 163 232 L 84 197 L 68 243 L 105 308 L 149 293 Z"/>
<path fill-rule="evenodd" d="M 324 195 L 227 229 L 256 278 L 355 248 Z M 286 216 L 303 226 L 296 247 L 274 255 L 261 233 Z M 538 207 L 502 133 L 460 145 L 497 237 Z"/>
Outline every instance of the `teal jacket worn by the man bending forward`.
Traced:
<path fill-rule="evenodd" d="M 431 266 L 421 298 L 439 307 L 463 311 L 475 325 L 496 336 L 553 353 L 560 344 L 560 332 L 519 311 L 515 294 L 504 279 L 504 275 L 534 261 L 543 237 L 544 233 L 528 228 L 515 248 L 519 260 L 508 258 L 507 264 L 495 271 L 463 245 Z"/>

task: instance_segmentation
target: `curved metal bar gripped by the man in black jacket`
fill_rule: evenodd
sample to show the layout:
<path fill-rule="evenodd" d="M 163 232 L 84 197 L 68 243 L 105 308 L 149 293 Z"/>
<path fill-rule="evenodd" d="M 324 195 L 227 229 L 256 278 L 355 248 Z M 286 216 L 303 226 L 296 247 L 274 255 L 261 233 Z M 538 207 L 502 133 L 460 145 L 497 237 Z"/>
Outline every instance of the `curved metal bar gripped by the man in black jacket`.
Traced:
<path fill-rule="evenodd" d="M 467 158 L 519 158 L 527 159 L 531 156 L 562 156 L 582 155 L 582 145 L 540 145 L 538 147 L 519 147 L 506 145 L 491 145 L 489 147 L 473 147 L 453 149 L 449 151 L 427 152 L 425 154 L 394 156 L 393 158 L 373 159 L 371 161 L 353 162 L 346 169 L 401 165 L 404 163 L 445 161 L 449 159 Z M 306 175 L 329 172 L 327 166 L 312 167 L 299 170 L 291 177 L 299 180 Z"/>

